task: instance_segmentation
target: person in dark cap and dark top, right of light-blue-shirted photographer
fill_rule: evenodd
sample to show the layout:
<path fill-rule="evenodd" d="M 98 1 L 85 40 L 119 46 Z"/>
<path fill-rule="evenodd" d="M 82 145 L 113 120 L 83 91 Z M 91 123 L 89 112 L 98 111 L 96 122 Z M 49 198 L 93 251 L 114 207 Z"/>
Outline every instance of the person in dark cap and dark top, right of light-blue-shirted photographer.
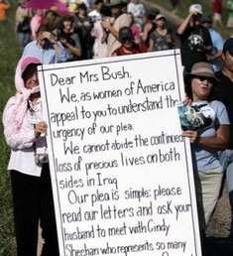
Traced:
<path fill-rule="evenodd" d="M 73 19 L 63 17 L 58 23 L 58 40 L 67 52 L 67 61 L 76 61 L 81 57 L 79 37 L 73 33 Z"/>

